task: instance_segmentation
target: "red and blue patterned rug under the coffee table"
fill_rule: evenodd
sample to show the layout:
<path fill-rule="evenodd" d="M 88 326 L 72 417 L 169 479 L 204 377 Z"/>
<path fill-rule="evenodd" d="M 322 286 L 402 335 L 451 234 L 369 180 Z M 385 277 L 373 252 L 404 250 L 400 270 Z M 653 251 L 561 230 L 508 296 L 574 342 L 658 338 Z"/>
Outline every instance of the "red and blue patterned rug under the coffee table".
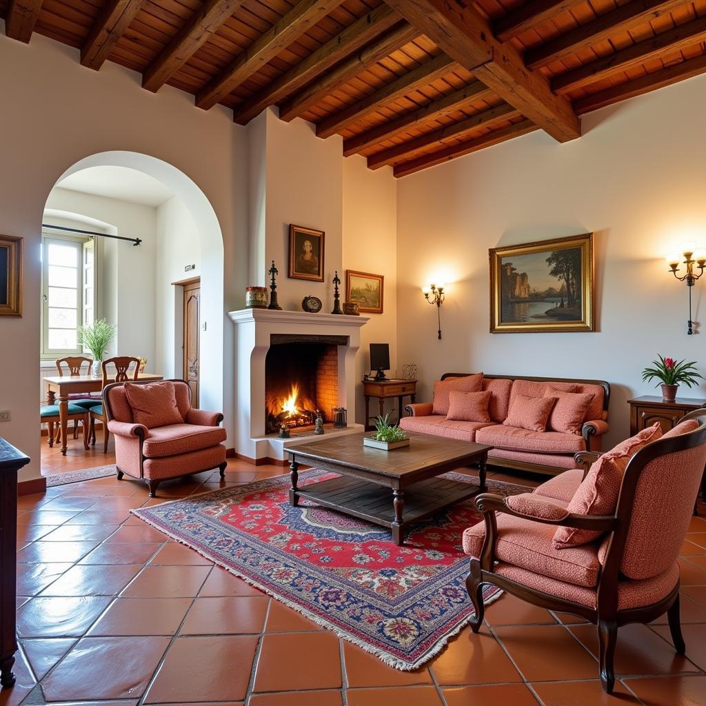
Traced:
<path fill-rule="evenodd" d="M 329 477 L 304 471 L 299 485 Z M 397 547 L 384 527 L 309 501 L 292 508 L 288 489 L 284 475 L 132 512 L 397 669 L 417 669 L 472 618 L 461 549 L 481 519 L 472 500 L 411 525 Z M 489 481 L 489 490 L 527 488 Z M 484 600 L 500 593 L 486 587 Z"/>

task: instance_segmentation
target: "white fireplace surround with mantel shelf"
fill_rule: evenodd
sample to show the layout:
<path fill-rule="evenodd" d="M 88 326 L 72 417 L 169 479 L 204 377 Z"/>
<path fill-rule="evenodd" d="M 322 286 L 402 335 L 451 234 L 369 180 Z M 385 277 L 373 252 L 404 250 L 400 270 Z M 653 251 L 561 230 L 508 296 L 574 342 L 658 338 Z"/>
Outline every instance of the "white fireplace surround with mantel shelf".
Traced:
<path fill-rule="evenodd" d="M 284 460 L 286 448 L 313 441 L 311 437 L 283 442 L 265 436 L 265 357 L 273 334 L 346 336 L 348 345 L 338 347 L 338 405 L 348 411 L 348 430 L 362 431 L 354 424 L 355 356 L 360 347 L 360 330 L 369 319 L 345 314 L 241 309 L 228 316 L 235 325 L 235 451 L 258 461 Z"/>

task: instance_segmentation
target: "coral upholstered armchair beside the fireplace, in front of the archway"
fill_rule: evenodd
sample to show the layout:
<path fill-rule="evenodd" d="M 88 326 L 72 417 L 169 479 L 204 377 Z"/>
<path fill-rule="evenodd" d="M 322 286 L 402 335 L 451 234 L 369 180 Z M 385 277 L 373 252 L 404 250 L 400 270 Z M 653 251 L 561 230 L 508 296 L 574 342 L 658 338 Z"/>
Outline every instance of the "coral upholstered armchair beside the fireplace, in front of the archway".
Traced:
<path fill-rule="evenodd" d="M 141 424 L 141 419 L 150 417 L 150 412 L 160 414 L 160 390 L 164 383 L 174 385 L 174 398 L 179 419 L 176 423 Z M 226 460 L 226 431 L 220 425 L 223 415 L 220 412 L 205 412 L 191 407 L 191 388 L 183 380 L 169 380 L 160 383 L 136 381 L 129 385 L 150 385 L 147 405 L 137 411 L 128 400 L 125 383 L 113 383 L 103 390 L 104 409 L 108 419 L 108 430 L 115 438 L 115 460 L 118 479 L 124 474 L 140 479 L 150 487 L 150 498 L 155 497 L 161 481 L 213 468 L 220 470 L 224 477 Z M 170 388 L 167 387 L 170 391 Z M 153 390 L 153 393 L 152 393 Z M 150 395 L 153 395 L 150 397 Z M 153 405 L 150 404 L 153 400 Z M 143 395 L 143 402 L 145 396 Z M 172 402 L 173 405 L 174 402 Z M 152 410 L 150 410 L 152 406 Z"/>

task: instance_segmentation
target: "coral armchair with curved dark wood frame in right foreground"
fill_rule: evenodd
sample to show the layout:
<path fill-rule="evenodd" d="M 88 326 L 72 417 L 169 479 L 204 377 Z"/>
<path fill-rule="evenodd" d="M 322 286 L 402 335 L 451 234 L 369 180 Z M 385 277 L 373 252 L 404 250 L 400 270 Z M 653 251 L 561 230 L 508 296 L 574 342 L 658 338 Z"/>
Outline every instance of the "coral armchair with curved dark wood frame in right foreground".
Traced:
<path fill-rule="evenodd" d="M 566 509 L 584 476 L 580 469 L 515 498 L 477 496 L 484 525 L 464 534 L 464 549 L 473 557 L 466 585 L 476 611 L 474 632 L 483 621 L 481 588 L 492 584 L 597 625 L 600 678 L 607 693 L 614 688 L 618 627 L 649 623 L 666 612 L 674 647 L 685 652 L 677 557 L 706 463 L 706 409 L 685 419 L 695 420 L 695 429 L 647 443 L 630 458 L 610 515 Z M 579 463 L 586 460 L 581 456 Z M 601 535 L 582 546 L 557 549 L 558 527 Z"/>

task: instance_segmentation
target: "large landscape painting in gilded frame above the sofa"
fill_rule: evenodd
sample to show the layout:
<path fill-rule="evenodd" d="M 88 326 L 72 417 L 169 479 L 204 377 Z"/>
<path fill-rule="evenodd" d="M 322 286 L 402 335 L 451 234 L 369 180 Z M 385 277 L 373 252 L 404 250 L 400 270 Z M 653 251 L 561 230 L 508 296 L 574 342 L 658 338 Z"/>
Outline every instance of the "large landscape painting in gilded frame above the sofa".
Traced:
<path fill-rule="evenodd" d="M 593 234 L 492 248 L 490 332 L 594 331 Z"/>

